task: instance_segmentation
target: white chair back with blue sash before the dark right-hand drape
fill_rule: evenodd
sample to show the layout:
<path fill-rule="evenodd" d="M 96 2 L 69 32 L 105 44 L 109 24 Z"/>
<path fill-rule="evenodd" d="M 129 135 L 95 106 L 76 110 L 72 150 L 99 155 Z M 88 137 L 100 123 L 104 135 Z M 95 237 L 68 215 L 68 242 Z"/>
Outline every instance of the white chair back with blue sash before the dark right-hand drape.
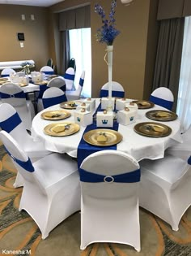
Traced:
<path fill-rule="evenodd" d="M 174 96 L 172 91 L 167 87 L 159 87 L 151 93 L 149 101 L 172 111 Z"/>

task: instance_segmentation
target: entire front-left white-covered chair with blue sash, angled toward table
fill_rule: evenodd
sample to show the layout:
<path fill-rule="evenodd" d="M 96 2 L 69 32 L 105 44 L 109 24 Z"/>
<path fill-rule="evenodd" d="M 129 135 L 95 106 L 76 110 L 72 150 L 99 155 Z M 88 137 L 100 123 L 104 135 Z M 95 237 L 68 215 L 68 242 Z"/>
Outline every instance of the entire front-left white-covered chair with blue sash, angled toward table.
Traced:
<path fill-rule="evenodd" d="M 10 134 L 2 131 L 0 138 L 23 176 L 19 211 L 26 210 L 31 215 L 45 239 L 59 223 L 80 210 L 77 163 L 68 155 L 57 153 L 32 163 Z"/>

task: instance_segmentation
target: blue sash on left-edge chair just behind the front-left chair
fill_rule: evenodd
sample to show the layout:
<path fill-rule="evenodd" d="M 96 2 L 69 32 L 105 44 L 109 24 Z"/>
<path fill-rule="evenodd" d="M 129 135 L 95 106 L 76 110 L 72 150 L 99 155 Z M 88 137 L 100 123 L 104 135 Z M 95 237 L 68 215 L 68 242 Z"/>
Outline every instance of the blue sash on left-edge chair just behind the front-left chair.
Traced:
<path fill-rule="evenodd" d="M 5 121 L 0 122 L 0 127 L 2 130 L 10 133 L 12 130 L 15 129 L 19 124 L 22 123 L 22 120 L 19 117 L 19 114 L 15 112 L 10 118 L 6 119 Z M 22 135 L 21 135 L 22 136 Z"/>

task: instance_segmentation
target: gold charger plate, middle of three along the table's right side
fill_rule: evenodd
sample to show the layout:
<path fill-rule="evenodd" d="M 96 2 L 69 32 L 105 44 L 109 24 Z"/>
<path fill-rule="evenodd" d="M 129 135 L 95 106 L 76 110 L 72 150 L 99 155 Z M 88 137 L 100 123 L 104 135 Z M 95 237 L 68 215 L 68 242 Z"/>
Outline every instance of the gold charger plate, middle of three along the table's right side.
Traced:
<path fill-rule="evenodd" d="M 148 111 L 146 112 L 146 117 L 156 121 L 173 121 L 177 119 L 178 115 L 171 111 Z"/>

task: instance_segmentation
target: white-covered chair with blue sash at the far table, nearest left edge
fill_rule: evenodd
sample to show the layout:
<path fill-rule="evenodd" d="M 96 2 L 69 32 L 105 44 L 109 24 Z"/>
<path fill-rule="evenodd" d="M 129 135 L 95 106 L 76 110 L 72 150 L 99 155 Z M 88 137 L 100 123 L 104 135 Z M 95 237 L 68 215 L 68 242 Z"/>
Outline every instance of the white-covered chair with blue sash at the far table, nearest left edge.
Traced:
<path fill-rule="evenodd" d="M 32 126 L 32 119 L 35 116 L 35 109 L 30 100 L 26 100 L 26 95 L 19 85 L 6 83 L 0 88 L 2 103 L 9 103 L 14 106 L 20 118 L 29 131 Z"/>

